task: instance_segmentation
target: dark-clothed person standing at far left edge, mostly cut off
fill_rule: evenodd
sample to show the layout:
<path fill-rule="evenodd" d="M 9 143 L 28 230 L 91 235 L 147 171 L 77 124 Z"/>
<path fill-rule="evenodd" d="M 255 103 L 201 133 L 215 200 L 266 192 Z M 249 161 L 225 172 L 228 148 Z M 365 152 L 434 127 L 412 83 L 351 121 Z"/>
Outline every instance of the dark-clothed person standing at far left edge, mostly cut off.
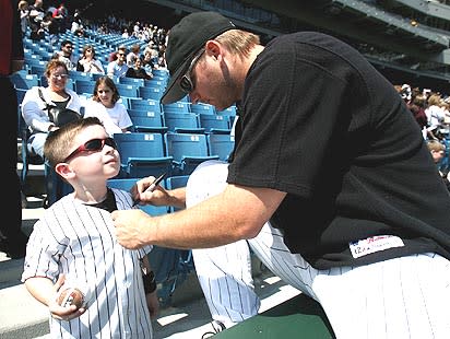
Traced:
<path fill-rule="evenodd" d="M 10 75 L 22 69 L 24 51 L 17 2 L 0 0 L 0 106 L 3 115 L 1 133 L 3 183 L 15 188 L 8 191 L 2 210 L 8 221 L 0 223 L 0 250 L 12 259 L 25 256 L 27 236 L 22 233 L 21 183 L 17 176 L 17 96 Z M 11 218 L 12 217 L 12 218 Z M 4 307 L 4 306 L 3 306 Z"/>

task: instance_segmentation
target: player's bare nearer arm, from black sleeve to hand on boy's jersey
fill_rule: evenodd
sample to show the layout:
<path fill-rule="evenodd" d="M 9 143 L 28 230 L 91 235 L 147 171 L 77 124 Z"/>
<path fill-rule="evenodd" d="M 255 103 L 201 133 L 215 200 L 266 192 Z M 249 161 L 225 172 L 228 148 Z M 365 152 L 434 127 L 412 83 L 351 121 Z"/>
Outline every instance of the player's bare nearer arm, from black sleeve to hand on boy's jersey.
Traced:
<path fill-rule="evenodd" d="M 127 248 L 146 244 L 209 248 L 254 237 L 283 201 L 285 192 L 238 185 L 192 208 L 152 218 L 140 210 L 114 211 L 118 242 Z"/>

